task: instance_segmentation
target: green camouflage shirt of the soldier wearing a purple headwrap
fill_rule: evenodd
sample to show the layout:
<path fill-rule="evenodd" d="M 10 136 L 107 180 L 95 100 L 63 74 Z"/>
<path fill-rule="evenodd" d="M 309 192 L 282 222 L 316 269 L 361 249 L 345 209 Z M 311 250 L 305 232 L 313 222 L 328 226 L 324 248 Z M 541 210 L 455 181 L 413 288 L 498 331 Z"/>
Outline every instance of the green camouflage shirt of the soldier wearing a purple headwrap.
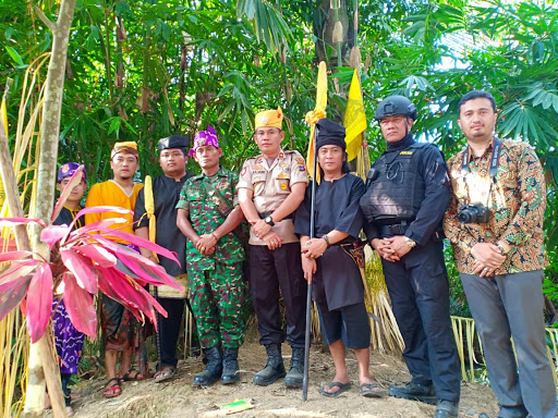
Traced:
<path fill-rule="evenodd" d="M 215 232 L 226 220 L 222 213 L 225 208 L 219 210 L 221 200 L 215 194 L 209 196 L 211 188 L 209 187 L 208 190 L 204 183 L 211 184 L 232 209 L 239 204 L 236 196 L 239 175 L 223 168 L 210 177 L 202 173 L 186 180 L 180 192 L 177 209 L 186 211 L 189 221 L 197 235 Z M 215 253 L 210 256 L 202 255 L 192 241 L 189 239 L 186 243 L 189 269 L 190 266 L 195 266 L 198 270 L 213 270 L 216 262 L 232 265 L 242 260 L 244 260 L 244 248 L 232 231 L 219 238 Z"/>

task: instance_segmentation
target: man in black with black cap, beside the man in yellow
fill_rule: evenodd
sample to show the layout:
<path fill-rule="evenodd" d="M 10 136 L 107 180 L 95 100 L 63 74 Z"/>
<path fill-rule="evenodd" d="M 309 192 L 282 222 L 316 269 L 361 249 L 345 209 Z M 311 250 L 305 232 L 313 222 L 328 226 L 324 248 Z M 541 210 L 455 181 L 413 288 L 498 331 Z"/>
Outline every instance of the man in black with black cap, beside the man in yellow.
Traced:
<path fill-rule="evenodd" d="M 154 262 L 159 262 L 168 274 L 173 275 L 184 287 L 187 286 L 186 278 L 186 237 L 177 228 L 177 206 L 180 198 L 180 190 L 186 179 L 187 155 L 186 148 L 190 139 L 187 136 L 172 135 L 159 140 L 159 164 L 163 175 L 153 180 L 153 187 L 144 187 L 137 195 L 134 221 L 135 234 L 149 239 L 149 214 L 145 207 L 145 194 L 151 193 L 154 199 L 154 213 L 156 219 L 155 243 L 177 253 L 180 266 L 175 261 L 162 256 L 155 256 L 146 248 L 140 248 L 144 257 Z M 180 324 L 184 314 L 184 303 L 187 303 L 186 295 L 168 286 L 157 288 L 157 300 L 167 310 L 168 317 L 163 318 L 157 314 L 157 336 L 159 364 L 155 373 L 155 381 L 162 382 L 174 376 L 177 372 L 177 342 L 180 334 Z"/>

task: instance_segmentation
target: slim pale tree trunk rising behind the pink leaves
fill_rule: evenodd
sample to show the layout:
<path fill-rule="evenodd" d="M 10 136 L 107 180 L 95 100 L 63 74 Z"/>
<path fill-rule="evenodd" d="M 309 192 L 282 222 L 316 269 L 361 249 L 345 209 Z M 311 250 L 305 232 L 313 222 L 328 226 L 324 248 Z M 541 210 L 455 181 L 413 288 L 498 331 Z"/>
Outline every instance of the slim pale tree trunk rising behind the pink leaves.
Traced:
<path fill-rule="evenodd" d="M 37 179 L 37 206 L 35 218 L 49 222 L 54 204 L 58 142 L 60 136 L 60 113 L 64 94 L 64 70 L 68 58 L 70 28 L 75 10 L 75 0 L 62 0 L 56 24 L 48 20 L 43 11 L 35 8 L 41 21 L 52 32 L 52 52 L 45 86 L 45 103 L 40 127 L 39 161 Z M 48 245 L 40 242 L 40 226 L 32 229 L 33 249 L 45 259 L 50 258 Z M 52 361 L 52 344 L 44 336 L 29 349 L 28 383 L 25 397 L 24 416 L 43 415 L 45 399 L 45 381 L 52 404 L 54 417 L 66 417 L 64 396 L 60 383 L 60 373 Z"/>

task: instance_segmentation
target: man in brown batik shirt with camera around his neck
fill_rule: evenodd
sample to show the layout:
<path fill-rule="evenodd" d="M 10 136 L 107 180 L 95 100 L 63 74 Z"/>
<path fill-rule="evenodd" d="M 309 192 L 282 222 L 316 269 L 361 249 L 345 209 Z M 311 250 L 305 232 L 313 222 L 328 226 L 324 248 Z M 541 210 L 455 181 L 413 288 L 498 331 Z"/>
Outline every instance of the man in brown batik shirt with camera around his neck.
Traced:
<path fill-rule="evenodd" d="M 458 123 L 468 146 L 448 161 L 453 196 L 444 226 L 481 335 L 498 417 L 554 418 L 543 320 L 544 173 L 529 144 L 495 135 L 496 119 L 490 94 L 461 98 Z"/>

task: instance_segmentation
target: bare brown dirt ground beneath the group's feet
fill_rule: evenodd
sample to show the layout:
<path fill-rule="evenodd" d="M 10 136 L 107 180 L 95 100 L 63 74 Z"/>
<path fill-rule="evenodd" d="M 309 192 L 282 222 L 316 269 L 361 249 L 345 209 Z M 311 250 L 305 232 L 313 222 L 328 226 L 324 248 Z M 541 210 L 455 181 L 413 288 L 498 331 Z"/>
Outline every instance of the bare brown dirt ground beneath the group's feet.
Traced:
<path fill-rule="evenodd" d="M 290 349 L 283 344 L 286 366 L 290 361 Z M 356 360 L 348 354 L 348 367 L 353 386 L 337 398 L 325 397 L 318 390 L 333 376 L 329 353 L 322 353 L 319 345 L 311 351 L 310 385 L 307 401 L 302 401 L 302 391 L 287 389 L 282 380 L 262 388 L 252 383 L 252 377 L 264 366 L 265 348 L 255 342 L 245 343 L 239 355 L 241 381 L 233 385 L 220 382 L 202 389 L 192 385 L 193 378 L 203 369 L 201 358 L 187 358 L 179 362 L 174 379 L 155 383 L 153 379 L 142 382 L 125 382 L 122 395 L 102 397 L 102 379 L 94 379 L 73 390 L 80 398 L 73 402 L 75 417 L 87 418 L 213 418 L 223 417 L 222 404 L 236 399 L 251 399 L 254 408 L 235 413 L 236 418 L 279 417 L 359 417 L 359 418 L 426 418 L 433 417 L 435 407 L 417 402 L 383 398 L 365 398 L 359 394 Z M 400 358 L 373 353 L 371 373 L 381 388 L 405 383 L 410 380 Z M 476 417 L 486 413 L 497 415 L 498 407 L 492 390 L 476 383 L 462 383 L 460 417 Z M 51 416 L 51 413 L 49 413 Z"/>

